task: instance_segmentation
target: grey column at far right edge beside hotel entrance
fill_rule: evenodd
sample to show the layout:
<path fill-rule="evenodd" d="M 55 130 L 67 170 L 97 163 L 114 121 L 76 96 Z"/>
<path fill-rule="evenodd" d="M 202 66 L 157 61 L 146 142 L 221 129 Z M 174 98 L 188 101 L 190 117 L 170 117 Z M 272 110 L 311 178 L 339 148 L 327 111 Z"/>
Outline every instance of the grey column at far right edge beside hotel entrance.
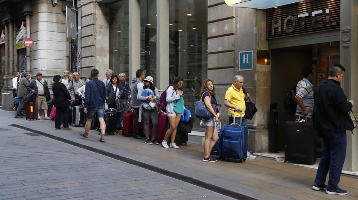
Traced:
<path fill-rule="evenodd" d="M 358 1 L 340 1 L 340 64 L 345 67 L 345 76 L 342 87 L 348 99 L 353 99 L 352 108 L 358 118 Z M 355 123 L 354 117 L 352 116 Z M 347 131 L 347 153 L 343 170 L 358 171 L 358 128 L 353 130 L 354 135 Z"/>

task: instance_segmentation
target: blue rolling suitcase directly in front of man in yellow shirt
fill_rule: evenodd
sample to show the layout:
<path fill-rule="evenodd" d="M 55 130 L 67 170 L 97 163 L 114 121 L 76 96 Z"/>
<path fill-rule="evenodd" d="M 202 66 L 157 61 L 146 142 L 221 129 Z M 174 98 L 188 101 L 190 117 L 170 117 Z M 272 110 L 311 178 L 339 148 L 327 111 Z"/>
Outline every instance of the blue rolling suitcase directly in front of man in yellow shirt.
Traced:
<path fill-rule="evenodd" d="M 240 113 L 241 114 L 241 113 Z M 241 117 L 241 116 L 240 116 Z M 222 160 L 225 158 L 239 159 L 239 162 L 246 161 L 247 157 L 247 133 L 248 127 L 235 124 L 235 111 L 234 123 L 225 124 L 223 127 L 223 144 L 222 144 Z"/>

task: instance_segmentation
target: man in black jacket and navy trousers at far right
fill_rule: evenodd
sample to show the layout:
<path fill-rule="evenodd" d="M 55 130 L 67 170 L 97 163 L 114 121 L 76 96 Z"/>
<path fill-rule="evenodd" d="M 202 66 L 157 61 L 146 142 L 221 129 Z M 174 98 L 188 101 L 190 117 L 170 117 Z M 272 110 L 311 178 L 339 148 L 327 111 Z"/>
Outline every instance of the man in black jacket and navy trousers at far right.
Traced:
<path fill-rule="evenodd" d="M 346 190 L 338 187 L 338 183 L 347 149 L 345 120 L 354 101 L 348 101 L 340 87 L 344 72 L 342 65 L 333 64 L 328 79 L 317 87 L 314 94 L 314 125 L 316 134 L 323 137 L 323 150 L 312 189 L 325 189 L 327 194 L 347 194 Z M 328 171 L 326 186 L 324 183 Z"/>

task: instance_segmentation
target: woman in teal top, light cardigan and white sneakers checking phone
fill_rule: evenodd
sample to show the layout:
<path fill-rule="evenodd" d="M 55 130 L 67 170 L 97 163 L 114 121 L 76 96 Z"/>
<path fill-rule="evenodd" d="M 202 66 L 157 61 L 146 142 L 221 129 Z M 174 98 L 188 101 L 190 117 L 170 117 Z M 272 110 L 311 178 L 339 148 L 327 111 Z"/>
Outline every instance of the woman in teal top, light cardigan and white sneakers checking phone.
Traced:
<path fill-rule="evenodd" d="M 169 118 L 169 129 L 166 131 L 164 140 L 161 143 L 164 148 L 169 148 L 166 141 L 170 138 L 170 147 L 178 149 L 174 143 L 176 128 L 178 127 L 180 118 L 184 114 L 184 93 L 183 93 L 184 78 L 177 76 L 174 79 L 173 85 L 166 90 L 166 114 Z"/>

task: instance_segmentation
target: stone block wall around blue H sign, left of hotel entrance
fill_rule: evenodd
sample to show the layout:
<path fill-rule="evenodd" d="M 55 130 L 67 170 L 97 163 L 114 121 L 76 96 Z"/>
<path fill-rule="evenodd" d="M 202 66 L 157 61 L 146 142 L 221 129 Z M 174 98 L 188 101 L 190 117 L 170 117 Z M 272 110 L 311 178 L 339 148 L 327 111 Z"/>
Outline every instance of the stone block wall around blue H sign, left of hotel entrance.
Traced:
<path fill-rule="evenodd" d="M 212 79 L 219 104 L 240 74 L 244 87 L 258 112 L 248 120 L 249 150 L 268 151 L 268 122 L 270 109 L 270 66 L 256 65 L 257 49 L 267 50 L 266 11 L 229 7 L 224 0 L 208 1 L 208 78 Z M 238 71 L 238 53 L 253 51 L 253 70 Z M 223 106 L 223 122 L 228 123 L 228 109 Z"/>

